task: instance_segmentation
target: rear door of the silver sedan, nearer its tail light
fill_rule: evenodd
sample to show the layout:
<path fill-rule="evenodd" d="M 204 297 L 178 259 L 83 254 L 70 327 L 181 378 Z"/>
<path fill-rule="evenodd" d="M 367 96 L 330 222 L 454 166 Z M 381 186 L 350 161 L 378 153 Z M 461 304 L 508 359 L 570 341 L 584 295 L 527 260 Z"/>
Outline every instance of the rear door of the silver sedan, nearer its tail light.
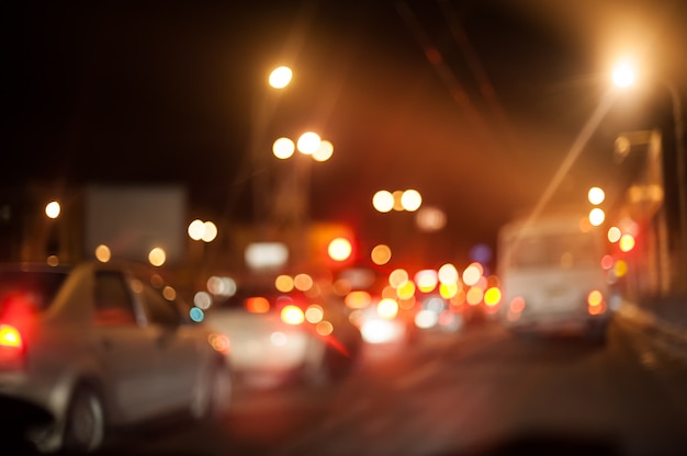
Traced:
<path fill-rule="evenodd" d="M 128 281 L 120 271 L 95 272 L 94 306 L 112 403 L 125 420 L 142 418 L 162 395 L 153 375 L 159 364 L 157 334 L 142 321 Z"/>

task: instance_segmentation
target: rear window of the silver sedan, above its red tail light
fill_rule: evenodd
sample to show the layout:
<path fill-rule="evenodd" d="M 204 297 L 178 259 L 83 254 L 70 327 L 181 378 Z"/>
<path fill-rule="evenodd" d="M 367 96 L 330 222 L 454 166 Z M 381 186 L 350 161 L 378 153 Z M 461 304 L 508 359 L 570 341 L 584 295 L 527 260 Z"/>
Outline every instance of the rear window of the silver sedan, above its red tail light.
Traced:
<path fill-rule="evenodd" d="M 0 271 L 0 316 L 18 306 L 47 309 L 66 278 L 59 271 Z"/>

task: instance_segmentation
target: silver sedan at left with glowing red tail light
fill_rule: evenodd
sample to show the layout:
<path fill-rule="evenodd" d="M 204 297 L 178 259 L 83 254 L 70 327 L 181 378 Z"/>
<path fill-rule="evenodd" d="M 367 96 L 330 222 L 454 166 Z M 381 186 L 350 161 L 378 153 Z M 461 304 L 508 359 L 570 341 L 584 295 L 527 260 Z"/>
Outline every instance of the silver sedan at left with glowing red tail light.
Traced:
<path fill-rule="evenodd" d="M 210 337 L 146 266 L 1 265 L 0 402 L 31 411 L 2 432 L 19 428 L 42 453 L 79 454 L 115 426 L 221 413 L 230 371 Z"/>

